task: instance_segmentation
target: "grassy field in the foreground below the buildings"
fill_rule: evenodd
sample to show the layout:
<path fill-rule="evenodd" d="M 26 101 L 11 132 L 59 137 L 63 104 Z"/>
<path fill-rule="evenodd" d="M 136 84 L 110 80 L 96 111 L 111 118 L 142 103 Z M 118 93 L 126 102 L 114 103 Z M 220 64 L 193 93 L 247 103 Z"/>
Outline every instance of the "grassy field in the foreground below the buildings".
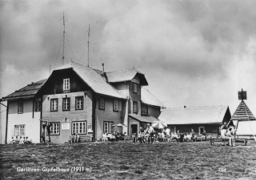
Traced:
<path fill-rule="evenodd" d="M 0 147 L 2 179 L 256 178 L 256 143 L 253 142 L 237 147 L 222 147 L 218 143 L 212 147 L 209 142 L 10 144 Z M 50 169 L 57 167 L 69 171 Z M 71 172 L 74 167 L 77 172 Z M 21 168 L 41 171 L 19 171 Z"/>

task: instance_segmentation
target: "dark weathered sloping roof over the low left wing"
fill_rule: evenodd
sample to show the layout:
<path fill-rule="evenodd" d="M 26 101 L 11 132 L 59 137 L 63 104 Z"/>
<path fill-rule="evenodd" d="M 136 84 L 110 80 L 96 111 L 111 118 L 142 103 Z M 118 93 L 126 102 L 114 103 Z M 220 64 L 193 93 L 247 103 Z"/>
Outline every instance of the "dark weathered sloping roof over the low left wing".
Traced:
<path fill-rule="evenodd" d="M 37 82 L 32 82 L 31 84 L 26 85 L 24 88 L 21 88 L 10 95 L 3 97 L 3 100 L 18 100 L 18 99 L 28 99 L 34 97 L 38 90 L 46 80 L 39 80 Z"/>

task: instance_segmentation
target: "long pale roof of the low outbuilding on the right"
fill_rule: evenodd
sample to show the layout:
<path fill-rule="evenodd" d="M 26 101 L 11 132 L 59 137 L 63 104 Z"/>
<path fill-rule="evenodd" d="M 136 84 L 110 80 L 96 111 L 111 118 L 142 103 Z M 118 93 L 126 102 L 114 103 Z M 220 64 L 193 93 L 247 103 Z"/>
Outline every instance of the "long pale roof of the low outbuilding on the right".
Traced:
<path fill-rule="evenodd" d="M 222 123 L 228 106 L 164 109 L 158 119 L 167 124 Z"/>

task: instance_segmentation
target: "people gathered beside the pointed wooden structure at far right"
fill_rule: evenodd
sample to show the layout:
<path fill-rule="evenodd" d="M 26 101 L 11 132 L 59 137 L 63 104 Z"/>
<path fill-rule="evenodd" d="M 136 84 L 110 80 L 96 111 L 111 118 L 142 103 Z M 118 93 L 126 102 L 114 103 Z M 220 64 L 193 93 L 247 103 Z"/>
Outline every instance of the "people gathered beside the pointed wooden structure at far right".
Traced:
<path fill-rule="evenodd" d="M 226 146 L 226 145 L 230 147 L 235 146 L 234 135 L 236 131 L 237 131 L 236 126 L 234 125 L 228 126 L 226 122 L 223 123 L 221 127 L 222 146 Z M 226 140 L 228 140 L 228 143 L 226 143 Z"/>

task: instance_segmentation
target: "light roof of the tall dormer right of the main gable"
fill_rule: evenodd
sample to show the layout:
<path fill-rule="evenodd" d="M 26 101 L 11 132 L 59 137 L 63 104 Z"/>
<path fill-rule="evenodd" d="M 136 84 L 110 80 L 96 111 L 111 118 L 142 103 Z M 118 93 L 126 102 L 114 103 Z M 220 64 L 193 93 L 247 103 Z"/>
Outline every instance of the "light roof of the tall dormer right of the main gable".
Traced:
<path fill-rule="evenodd" d="M 138 75 L 141 81 L 141 85 L 148 85 L 144 74 L 142 74 L 142 72 L 139 72 L 135 68 L 130 68 L 130 69 L 121 70 L 121 71 L 114 71 L 114 72 L 106 72 L 107 80 L 110 83 L 118 83 L 118 82 L 133 80 L 136 75 Z"/>

